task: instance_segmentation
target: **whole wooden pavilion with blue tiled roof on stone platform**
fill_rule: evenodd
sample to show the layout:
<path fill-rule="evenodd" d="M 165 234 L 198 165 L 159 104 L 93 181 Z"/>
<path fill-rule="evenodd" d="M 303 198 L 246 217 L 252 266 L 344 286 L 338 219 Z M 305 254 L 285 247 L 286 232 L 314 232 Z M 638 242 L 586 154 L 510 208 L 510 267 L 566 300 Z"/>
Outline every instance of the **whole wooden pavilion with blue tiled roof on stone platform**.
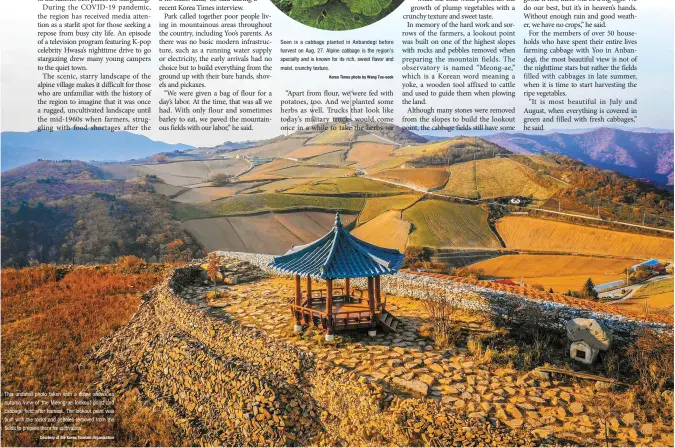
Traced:
<path fill-rule="evenodd" d="M 291 311 L 294 329 L 314 325 L 326 331 L 326 341 L 335 331 L 367 329 L 370 336 L 376 329 L 396 331 L 397 319 L 385 309 L 380 293 L 380 276 L 396 273 L 403 263 L 403 254 L 362 241 L 349 234 L 342 226 L 340 214 L 335 225 L 323 237 L 294 246 L 285 255 L 275 257 L 270 267 L 295 275 L 295 297 Z M 303 291 L 301 277 L 305 277 Z M 350 280 L 367 279 L 367 295 L 351 288 Z M 312 279 L 325 282 L 325 288 L 312 289 Z M 335 280 L 342 280 L 336 287 Z M 386 302 L 386 300 L 385 300 Z"/>

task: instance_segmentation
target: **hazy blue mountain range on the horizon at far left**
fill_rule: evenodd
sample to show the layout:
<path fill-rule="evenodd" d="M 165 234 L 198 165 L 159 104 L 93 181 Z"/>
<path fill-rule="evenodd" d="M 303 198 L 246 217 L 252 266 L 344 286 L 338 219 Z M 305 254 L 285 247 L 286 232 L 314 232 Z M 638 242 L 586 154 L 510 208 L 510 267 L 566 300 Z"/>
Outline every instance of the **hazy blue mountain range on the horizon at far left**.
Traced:
<path fill-rule="evenodd" d="M 2 171 L 38 159 L 124 161 L 193 148 L 124 131 L 3 132 L 1 138 Z"/>

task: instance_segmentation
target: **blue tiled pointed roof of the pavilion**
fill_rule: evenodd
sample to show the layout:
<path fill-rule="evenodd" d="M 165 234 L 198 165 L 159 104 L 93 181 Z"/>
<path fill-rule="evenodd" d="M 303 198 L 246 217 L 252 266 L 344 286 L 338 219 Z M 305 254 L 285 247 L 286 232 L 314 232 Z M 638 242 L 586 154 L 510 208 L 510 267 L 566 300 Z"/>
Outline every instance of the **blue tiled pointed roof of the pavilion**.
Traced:
<path fill-rule="evenodd" d="M 393 274 L 402 263 L 403 254 L 398 250 L 375 246 L 347 232 L 337 213 L 330 232 L 274 257 L 270 267 L 289 274 L 334 279 Z"/>

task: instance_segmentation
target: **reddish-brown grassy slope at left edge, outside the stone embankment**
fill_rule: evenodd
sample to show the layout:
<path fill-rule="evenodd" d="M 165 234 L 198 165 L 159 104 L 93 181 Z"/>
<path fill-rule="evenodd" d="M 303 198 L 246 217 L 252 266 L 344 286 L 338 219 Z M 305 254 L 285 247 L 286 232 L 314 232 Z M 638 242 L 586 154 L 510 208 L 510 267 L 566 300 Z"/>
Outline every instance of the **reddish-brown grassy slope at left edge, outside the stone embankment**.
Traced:
<path fill-rule="evenodd" d="M 81 364 L 85 353 L 129 321 L 140 304 L 140 293 L 163 271 L 135 257 L 121 262 L 123 266 L 70 272 L 50 265 L 2 271 L 3 391 L 90 390 L 95 372 Z M 2 442 L 40 446 L 42 434 L 3 431 Z M 128 434 L 118 435 L 116 442 L 125 444 Z M 157 440 L 160 445 L 170 442 Z"/>

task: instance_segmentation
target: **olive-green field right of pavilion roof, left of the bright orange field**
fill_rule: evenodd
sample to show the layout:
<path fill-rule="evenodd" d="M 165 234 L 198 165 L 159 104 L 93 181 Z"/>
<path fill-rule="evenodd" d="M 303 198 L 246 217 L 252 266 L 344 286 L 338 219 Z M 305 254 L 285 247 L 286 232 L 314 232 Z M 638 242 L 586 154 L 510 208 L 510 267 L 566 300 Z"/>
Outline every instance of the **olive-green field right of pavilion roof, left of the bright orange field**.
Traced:
<path fill-rule="evenodd" d="M 403 212 L 403 219 L 414 226 L 409 244 L 437 248 L 500 248 L 487 218 L 480 207 L 437 199 L 420 201 Z"/>

